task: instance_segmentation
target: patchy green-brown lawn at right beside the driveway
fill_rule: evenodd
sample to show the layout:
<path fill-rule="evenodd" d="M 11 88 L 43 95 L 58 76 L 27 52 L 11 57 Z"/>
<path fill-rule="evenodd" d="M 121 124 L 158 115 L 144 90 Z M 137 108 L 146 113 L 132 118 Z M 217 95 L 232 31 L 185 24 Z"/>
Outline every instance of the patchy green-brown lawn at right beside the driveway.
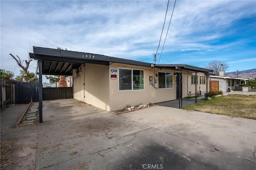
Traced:
<path fill-rule="evenodd" d="M 182 109 L 256 119 L 256 96 L 222 96 L 219 98 L 212 98 L 205 102 L 182 107 Z"/>

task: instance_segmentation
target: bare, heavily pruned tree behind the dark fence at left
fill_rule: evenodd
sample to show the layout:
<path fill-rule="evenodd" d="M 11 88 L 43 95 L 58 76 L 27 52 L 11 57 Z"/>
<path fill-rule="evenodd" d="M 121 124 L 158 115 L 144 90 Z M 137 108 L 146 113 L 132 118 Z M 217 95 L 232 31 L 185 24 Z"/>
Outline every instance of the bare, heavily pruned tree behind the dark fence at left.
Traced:
<path fill-rule="evenodd" d="M 20 66 L 20 68 L 22 68 L 22 70 L 23 70 L 22 82 L 30 82 L 30 81 L 35 80 L 37 78 L 38 62 L 36 62 L 35 76 L 28 80 L 27 79 L 28 67 L 29 67 L 30 62 L 33 61 L 33 59 L 28 59 L 28 60 L 21 61 L 20 57 L 18 57 L 18 55 L 16 55 L 16 57 L 15 57 L 14 55 L 10 54 L 10 56 L 12 56 L 12 58 L 16 61 L 18 66 Z M 26 65 L 23 65 L 24 61 L 25 61 Z"/>

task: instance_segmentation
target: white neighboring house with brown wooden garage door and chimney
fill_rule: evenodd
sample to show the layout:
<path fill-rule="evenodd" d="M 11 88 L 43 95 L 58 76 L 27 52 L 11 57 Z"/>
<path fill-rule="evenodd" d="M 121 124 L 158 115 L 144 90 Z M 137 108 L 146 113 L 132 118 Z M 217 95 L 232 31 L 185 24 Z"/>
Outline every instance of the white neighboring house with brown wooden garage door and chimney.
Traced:
<path fill-rule="evenodd" d="M 225 71 L 220 71 L 219 76 L 209 76 L 209 91 L 228 92 L 228 90 L 242 90 L 239 86 L 242 83 L 247 83 L 248 78 L 236 78 L 225 76 Z"/>

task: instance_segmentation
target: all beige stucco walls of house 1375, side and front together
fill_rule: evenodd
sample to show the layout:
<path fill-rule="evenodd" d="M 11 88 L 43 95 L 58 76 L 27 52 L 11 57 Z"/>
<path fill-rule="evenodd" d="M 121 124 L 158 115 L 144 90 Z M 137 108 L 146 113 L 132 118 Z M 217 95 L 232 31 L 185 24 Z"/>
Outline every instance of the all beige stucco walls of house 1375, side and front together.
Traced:
<path fill-rule="evenodd" d="M 119 68 L 144 70 L 144 90 L 119 90 Z M 110 79 L 110 70 L 117 70 L 117 79 Z M 171 72 L 173 88 L 159 89 L 149 84 L 149 76 L 159 74 L 157 68 L 134 66 L 130 64 L 112 63 L 110 66 L 85 64 L 78 69 L 79 77 L 74 77 L 74 98 L 101 109 L 119 110 L 127 104 L 158 103 L 176 99 L 176 77 L 174 70 L 162 69 L 160 72 Z M 177 72 L 177 71 L 176 71 Z M 188 91 L 194 93 L 191 84 L 191 72 L 182 71 L 182 97 L 188 96 Z M 204 75 L 198 73 L 198 75 Z M 158 77 L 155 77 L 158 83 Z M 206 85 L 198 85 L 198 92 L 206 91 Z"/>

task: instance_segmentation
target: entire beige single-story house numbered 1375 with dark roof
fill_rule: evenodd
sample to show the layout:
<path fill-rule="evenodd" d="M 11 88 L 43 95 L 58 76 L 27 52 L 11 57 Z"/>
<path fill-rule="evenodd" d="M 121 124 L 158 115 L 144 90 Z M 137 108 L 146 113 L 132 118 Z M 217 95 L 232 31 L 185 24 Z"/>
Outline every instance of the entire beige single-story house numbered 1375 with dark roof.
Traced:
<path fill-rule="evenodd" d="M 208 91 L 212 70 L 152 64 L 104 55 L 33 47 L 42 74 L 73 76 L 74 98 L 106 111 L 158 103 Z M 40 111 L 40 110 L 39 110 Z"/>

